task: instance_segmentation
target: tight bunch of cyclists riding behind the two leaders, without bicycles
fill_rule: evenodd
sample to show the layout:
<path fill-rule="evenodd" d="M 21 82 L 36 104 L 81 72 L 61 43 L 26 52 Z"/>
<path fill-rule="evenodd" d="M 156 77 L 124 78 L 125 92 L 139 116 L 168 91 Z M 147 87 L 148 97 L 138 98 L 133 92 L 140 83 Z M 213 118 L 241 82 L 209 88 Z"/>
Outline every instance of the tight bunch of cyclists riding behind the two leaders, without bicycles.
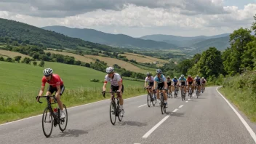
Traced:
<path fill-rule="evenodd" d="M 147 85 L 148 83 L 148 85 Z M 167 105 L 167 89 L 170 92 L 170 95 L 172 95 L 172 92 L 175 92 L 175 89 L 177 87 L 180 87 L 181 89 L 185 89 L 185 93 L 188 92 L 189 88 L 191 87 L 192 93 L 195 87 L 197 86 L 199 92 L 201 92 L 202 89 L 205 89 L 205 84 L 207 84 L 207 80 L 204 79 L 204 77 L 200 78 L 198 75 L 193 79 L 191 75 L 188 75 L 188 78 L 185 79 L 185 76 L 182 74 L 179 79 L 175 76 L 172 80 L 169 76 L 167 76 L 167 79 L 162 74 L 162 71 L 160 69 L 156 70 L 156 76 L 153 77 L 151 73 L 147 73 L 147 77 L 145 78 L 145 89 L 148 90 L 148 92 L 155 92 L 156 89 L 156 95 L 157 95 L 157 101 L 160 105 L 159 100 L 159 89 L 164 89 L 164 103 Z M 201 87 L 202 86 L 202 87 Z M 151 89 L 148 89 L 151 88 Z M 179 90 L 179 89 L 177 89 Z M 203 92 L 203 91 L 202 91 Z"/>

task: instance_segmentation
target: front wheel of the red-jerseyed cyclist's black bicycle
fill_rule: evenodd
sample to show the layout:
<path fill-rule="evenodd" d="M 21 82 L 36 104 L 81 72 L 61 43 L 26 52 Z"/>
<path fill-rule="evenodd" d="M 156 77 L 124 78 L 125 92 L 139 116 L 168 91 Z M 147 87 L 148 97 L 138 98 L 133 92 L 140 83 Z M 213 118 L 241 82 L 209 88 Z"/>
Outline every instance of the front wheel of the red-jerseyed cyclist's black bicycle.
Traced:
<path fill-rule="evenodd" d="M 50 123 L 48 128 L 49 130 L 47 131 L 47 123 Z M 49 137 L 52 134 L 52 127 L 53 127 L 53 121 L 52 121 L 52 113 L 49 109 L 49 107 L 44 109 L 43 117 L 42 117 L 42 127 L 43 127 L 43 132 L 46 137 Z"/>

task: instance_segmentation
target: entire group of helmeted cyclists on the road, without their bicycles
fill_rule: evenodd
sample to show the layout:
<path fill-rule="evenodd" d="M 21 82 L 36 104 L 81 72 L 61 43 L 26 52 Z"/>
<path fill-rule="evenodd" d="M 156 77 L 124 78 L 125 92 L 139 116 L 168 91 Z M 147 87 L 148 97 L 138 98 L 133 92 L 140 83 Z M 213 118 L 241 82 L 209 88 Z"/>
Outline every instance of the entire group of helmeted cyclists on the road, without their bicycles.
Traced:
<path fill-rule="evenodd" d="M 106 68 L 107 75 L 105 76 L 105 81 L 103 84 L 103 92 L 102 94 L 105 95 L 106 85 L 108 82 L 111 83 L 111 92 L 116 92 L 119 95 L 120 100 L 120 109 L 121 109 L 121 116 L 124 116 L 124 100 L 122 98 L 122 94 L 124 92 L 124 85 L 122 84 L 122 78 L 119 75 L 119 73 L 115 73 L 113 67 Z M 63 104 L 60 100 L 60 96 L 63 95 L 63 92 L 65 90 L 64 82 L 62 79 L 60 79 L 60 76 L 53 73 L 52 68 L 46 68 L 44 69 L 44 76 L 42 78 L 41 83 L 41 90 L 39 92 L 39 96 L 41 96 L 44 92 L 45 84 L 49 84 L 49 88 L 47 89 L 46 95 L 52 95 L 53 92 L 55 93 L 55 97 L 57 100 L 57 103 L 60 108 L 60 119 L 65 118 L 65 113 L 63 111 Z M 147 85 L 148 83 L 148 85 Z M 200 78 L 199 76 L 196 76 L 195 79 L 191 77 L 191 75 L 188 75 L 188 78 L 185 79 L 185 76 L 182 74 L 179 79 L 175 76 L 172 80 L 169 76 L 167 78 L 162 74 L 161 69 L 156 70 L 156 76 L 152 76 L 151 73 L 147 73 L 147 77 L 145 78 L 145 88 L 151 88 L 147 89 L 148 92 L 156 92 L 157 95 L 157 101 L 159 104 L 161 101 L 159 100 L 159 91 L 164 90 L 164 103 L 166 107 L 167 105 L 167 89 L 169 89 L 169 92 L 175 92 L 175 87 L 180 87 L 180 89 L 189 89 L 189 87 L 192 87 L 192 90 L 197 85 L 199 92 L 202 89 L 205 89 L 204 86 L 207 83 L 206 79 L 204 77 Z M 188 86 L 188 87 L 187 87 Z M 113 94 L 111 95 L 111 98 L 113 98 Z M 39 100 L 39 97 L 38 99 Z"/>

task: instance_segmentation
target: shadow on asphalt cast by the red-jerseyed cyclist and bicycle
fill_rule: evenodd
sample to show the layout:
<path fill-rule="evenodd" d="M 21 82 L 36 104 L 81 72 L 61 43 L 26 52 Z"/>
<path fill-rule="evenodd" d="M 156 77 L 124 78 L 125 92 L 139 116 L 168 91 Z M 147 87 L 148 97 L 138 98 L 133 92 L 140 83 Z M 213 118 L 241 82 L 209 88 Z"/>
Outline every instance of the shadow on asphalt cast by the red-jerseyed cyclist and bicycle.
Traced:
<path fill-rule="evenodd" d="M 80 130 L 80 129 L 67 129 L 64 132 L 60 132 L 57 135 L 52 135 L 51 138 L 56 137 L 79 137 L 79 135 L 88 134 L 87 131 Z"/>

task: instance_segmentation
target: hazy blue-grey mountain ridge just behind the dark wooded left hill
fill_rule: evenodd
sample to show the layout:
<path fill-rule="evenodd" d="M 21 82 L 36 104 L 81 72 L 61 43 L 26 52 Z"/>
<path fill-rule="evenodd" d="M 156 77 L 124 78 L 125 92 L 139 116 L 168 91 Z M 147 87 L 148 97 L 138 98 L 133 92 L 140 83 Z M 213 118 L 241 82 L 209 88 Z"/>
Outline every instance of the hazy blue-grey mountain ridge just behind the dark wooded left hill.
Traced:
<path fill-rule="evenodd" d="M 43 27 L 45 30 L 63 33 L 66 36 L 83 39 L 85 41 L 92 41 L 99 44 L 106 44 L 112 47 L 126 47 L 126 48 L 149 48 L 149 49 L 175 49 L 177 45 L 169 44 L 164 41 L 153 41 L 133 38 L 124 34 L 103 33 L 87 28 L 68 28 L 65 26 L 47 26 Z"/>

